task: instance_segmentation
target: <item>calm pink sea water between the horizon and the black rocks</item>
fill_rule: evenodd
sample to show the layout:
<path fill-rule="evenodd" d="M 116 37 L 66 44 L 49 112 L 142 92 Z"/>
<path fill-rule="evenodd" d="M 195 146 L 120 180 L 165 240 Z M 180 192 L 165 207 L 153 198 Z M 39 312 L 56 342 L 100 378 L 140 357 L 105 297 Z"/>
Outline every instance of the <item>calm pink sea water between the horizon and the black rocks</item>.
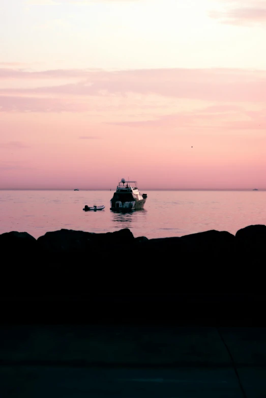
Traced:
<path fill-rule="evenodd" d="M 109 209 L 113 191 L 0 191 L 0 234 L 19 231 L 38 238 L 61 229 L 102 233 L 129 228 L 135 237 L 152 239 L 208 230 L 235 234 L 247 225 L 266 224 L 266 191 L 145 193 L 144 210 L 114 213 Z M 93 204 L 105 209 L 82 210 Z"/>

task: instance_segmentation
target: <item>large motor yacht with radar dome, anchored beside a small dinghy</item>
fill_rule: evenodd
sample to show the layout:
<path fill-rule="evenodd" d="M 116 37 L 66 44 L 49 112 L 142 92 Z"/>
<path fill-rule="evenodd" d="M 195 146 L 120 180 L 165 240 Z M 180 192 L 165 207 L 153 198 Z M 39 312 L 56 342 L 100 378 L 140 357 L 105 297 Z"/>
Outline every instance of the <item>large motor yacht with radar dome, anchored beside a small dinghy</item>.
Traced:
<path fill-rule="evenodd" d="M 135 186 L 133 186 L 135 184 Z M 147 194 L 141 194 L 136 181 L 126 181 L 124 178 L 116 187 L 110 201 L 110 210 L 138 210 L 143 209 Z"/>

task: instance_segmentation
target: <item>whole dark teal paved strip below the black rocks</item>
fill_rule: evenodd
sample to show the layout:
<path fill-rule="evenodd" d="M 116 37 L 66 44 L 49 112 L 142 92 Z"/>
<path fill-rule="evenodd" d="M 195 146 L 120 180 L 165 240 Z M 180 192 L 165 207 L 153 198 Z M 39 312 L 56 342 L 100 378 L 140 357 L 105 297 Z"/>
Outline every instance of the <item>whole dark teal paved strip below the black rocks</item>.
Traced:
<path fill-rule="evenodd" d="M 1 398 L 262 398 L 266 329 L 1 326 Z"/>

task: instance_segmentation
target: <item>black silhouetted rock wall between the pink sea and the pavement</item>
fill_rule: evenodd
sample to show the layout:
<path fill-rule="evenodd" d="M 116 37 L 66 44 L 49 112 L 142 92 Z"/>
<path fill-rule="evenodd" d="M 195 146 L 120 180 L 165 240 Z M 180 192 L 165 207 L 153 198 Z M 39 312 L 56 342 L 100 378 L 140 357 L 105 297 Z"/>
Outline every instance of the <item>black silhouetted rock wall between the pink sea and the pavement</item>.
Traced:
<path fill-rule="evenodd" d="M 9 321 L 249 323 L 266 303 L 265 225 L 160 239 L 9 232 L 0 249 Z"/>

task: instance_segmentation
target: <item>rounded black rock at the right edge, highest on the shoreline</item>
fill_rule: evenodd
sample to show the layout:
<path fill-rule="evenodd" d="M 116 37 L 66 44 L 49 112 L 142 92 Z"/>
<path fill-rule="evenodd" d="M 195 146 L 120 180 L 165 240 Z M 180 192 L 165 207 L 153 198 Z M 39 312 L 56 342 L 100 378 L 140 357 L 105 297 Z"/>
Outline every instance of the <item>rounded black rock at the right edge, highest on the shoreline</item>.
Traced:
<path fill-rule="evenodd" d="M 266 254 L 266 225 L 249 225 L 235 234 L 238 251 L 254 256 Z"/>

